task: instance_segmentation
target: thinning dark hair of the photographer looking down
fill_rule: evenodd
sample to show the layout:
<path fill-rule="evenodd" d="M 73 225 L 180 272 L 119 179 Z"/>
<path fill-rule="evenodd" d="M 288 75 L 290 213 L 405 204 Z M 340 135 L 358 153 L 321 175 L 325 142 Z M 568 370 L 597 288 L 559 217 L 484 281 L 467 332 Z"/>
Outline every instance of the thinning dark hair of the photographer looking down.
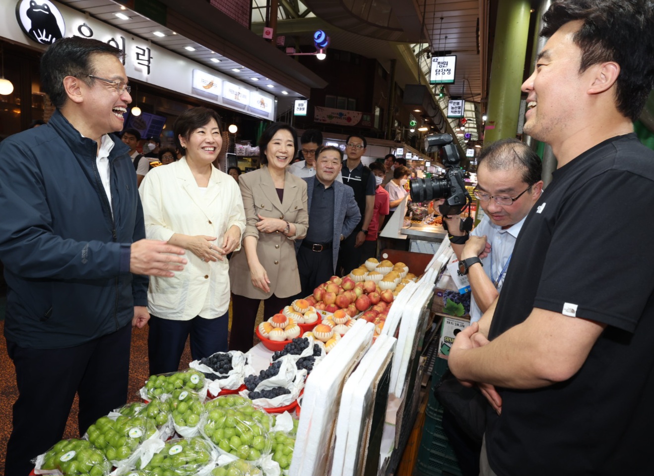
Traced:
<path fill-rule="evenodd" d="M 477 159 L 477 170 L 481 164 L 485 164 L 489 170 L 519 168 L 523 182 L 530 186 L 541 180 L 543 172 L 543 164 L 538 154 L 528 145 L 513 138 L 497 140 L 485 147 Z"/>

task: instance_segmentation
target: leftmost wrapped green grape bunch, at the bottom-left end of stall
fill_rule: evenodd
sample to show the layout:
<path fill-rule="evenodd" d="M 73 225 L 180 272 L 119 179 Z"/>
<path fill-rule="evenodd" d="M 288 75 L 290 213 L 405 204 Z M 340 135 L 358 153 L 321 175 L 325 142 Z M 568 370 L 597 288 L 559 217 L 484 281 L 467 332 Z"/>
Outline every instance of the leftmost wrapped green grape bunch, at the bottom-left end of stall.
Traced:
<path fill-rule="evenodd" d="M 41 469 L 59 469 L 65 476 L 103 476 L 111 471 L 111 463 L 85 439 L 62 439 L 46 452 Z"/>

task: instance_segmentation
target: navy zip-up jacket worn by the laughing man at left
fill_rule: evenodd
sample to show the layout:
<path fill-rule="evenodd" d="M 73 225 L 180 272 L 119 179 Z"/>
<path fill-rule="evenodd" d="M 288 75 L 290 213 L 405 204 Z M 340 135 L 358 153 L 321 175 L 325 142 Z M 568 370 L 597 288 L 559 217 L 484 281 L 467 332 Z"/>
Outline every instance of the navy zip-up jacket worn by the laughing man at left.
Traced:
<path fill-rule="evenodd" d="M 111 203 L 97 143 L 57 110 L 47 125 L 0 142 L 0 261 L 5 337 L 20 347 L 72 347 L 131 323 L 148 278 L 129 272 L 145 238 L 128 146 L 111 136 Z"/>

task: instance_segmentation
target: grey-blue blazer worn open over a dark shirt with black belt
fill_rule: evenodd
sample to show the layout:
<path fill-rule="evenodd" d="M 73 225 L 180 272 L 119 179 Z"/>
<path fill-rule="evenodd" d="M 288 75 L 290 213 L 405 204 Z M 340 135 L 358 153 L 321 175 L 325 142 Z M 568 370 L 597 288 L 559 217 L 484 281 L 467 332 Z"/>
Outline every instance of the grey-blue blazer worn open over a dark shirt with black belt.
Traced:
<path fill-rule="evenodd" d="M 307 182 L 307 208 L 309 209 L 309 216 L 311 215 L 311 198 L 313 198 L 313 185 L 315 177 L 303 178 Z M 352 187 L 343 185 L 336 180 L 332 184 L 334 187 L 334 236 L 332 236 L 332 262 L 334 272 L 336 272 L 336 261 L 338 260 L 338 250 L 341 246 L 341 234 L 347 238 L 353 232 L 354 227 L 358 225 L 361 220 L 361 212 L 359 206 L 354 200 L 354 190 Z M 325 240 L 327 241 L 327 240 Z M 300 249 L 302 240 L 297 240 L 295 249 L 296 252 Z"/>

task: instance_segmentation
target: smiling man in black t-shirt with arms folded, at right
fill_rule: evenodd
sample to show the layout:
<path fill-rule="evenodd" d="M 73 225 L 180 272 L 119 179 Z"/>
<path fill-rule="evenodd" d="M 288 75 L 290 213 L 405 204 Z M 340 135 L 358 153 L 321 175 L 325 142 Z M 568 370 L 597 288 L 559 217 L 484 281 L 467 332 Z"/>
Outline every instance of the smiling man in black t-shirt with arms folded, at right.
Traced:
<path fill-rule="evenodd" d="M 654 86 L 654 6 L 564 0 L 543 21 L 525 133 L 558 169 L 449 365 L 494 409 L 482 475 L 651 475 L 654 222 L 636 200 L 654 202 L 654 152 L 632 122 Z"/>

